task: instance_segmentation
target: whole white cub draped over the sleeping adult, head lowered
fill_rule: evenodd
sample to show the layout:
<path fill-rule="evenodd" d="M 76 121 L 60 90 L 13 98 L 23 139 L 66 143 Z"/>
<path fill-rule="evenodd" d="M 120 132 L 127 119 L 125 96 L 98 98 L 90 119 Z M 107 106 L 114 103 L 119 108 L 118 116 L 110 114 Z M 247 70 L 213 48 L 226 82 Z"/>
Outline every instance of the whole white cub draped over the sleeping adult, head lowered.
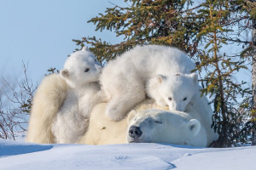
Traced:
<path fill-rule="evenodd" d="M 197 74 L 190 73 L 195 64 L 189 57 L 177 48 L 147 45 L 137 46 L 117 59 L 108 62 L 103 68 L 100 81 L 102 91 L 110 100 L 106 114 L 113 121 L 121 120 L 137 103 L 145 99 L 146 94 L 153 97 L 158 105 L 169 105 L 170 110 L 184 111 L 194 94 L 199 94 Z M 173 81 L 177 73 L 178 81 Z M 172 79 L 171 79 L 172 77 Z M 174 78 L 173 78 L 174 77 Z M 168 96 L 154 93 L 159 86 L 153 82 L 166 84 Z M 171 79 L 171 81 L 164 81 Z M 147 93 L 145 85 L 149 83 Z M 182 82 L 182 86 L 174 82 Z M 163 87 L 163 86 L 162 86 Z M 171 88 L 169 88 L 171 87 Z M 181 89 L 182 88 L 182 89 Z M 177 96 L 171 96 L 178 91 Z"/>

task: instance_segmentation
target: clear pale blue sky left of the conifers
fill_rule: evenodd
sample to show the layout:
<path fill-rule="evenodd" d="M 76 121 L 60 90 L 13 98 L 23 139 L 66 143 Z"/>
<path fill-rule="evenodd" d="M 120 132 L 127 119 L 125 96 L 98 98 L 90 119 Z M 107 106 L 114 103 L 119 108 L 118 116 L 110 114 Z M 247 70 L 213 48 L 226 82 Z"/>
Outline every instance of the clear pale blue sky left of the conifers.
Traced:
<path fill-rule="evenodd" d="M 28 64 L 32 82 L 40 82 L 50 67 L 61 69 L 77 48 L 72 39 L 96 36 L 119 42 L 114 32 L 95 31 L 87 23 L 119 0 L 0 0 L 0 76 L 7 80 L 23 76 Z"/>

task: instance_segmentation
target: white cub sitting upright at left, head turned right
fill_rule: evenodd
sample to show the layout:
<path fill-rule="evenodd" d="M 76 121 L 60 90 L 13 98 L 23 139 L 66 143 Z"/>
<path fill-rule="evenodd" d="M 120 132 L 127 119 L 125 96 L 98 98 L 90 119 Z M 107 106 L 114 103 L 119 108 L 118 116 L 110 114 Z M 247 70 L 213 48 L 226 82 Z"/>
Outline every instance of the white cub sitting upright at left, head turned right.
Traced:
<path fill-rule="evenodd" d="M 101 102 L 97 82 L 101 70 L 102 65 L 86 48 L 67 59 L 60 73 L 67 82 L 67 97 L 52 125 L 56 143 L 75 143 L 84 134 L 90 111 Z"/>

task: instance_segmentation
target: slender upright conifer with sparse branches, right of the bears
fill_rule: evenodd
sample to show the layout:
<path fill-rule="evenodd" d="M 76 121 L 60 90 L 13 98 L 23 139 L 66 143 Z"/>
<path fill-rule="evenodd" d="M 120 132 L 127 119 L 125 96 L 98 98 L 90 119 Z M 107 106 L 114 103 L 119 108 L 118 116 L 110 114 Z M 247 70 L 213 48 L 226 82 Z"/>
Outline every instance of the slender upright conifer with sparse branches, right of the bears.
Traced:
<path fill-rule="evenodd" d="M 237 101 L 237 98 L 246 99 L 251 94 L 251 89 L 244 88 L 246 82 L 234 82 L 232 77 L 238 71 L 247 69 L 248 63 L 244 59 L 245 55 L 232 56 L 229 51 L 227 52 L 230 55 L 220 54 L 219 49 L 229 47 L 228 45 L 234 42 L 247 45 L 247 42 L 241 42 L 237 38 L 239 35 L 234 33 L 234 28 L 237 29 L 235 26 L 240 24 L 239 21 L 248 23 L 249 17 L 243 12 L 243 1 L 207 1 L 201 5 L 198 14 L 204 21 L 197 37 L 205 45 L 198 51 L 201 64 L 197 65 L 197 69 L 206 73 L 201 80 L 201 94 L 209 94 L 212 97 L 212 127 L 219 134 L 214 146 L 246 143 L 252 129 L 252 123 L 247 122 L 250 109 L 241 110 L 241 106 L 245 104 L 244 101 Z M 239 28 L 238 31 L 244 31 L 242 29 L 249 27 Z"/>

